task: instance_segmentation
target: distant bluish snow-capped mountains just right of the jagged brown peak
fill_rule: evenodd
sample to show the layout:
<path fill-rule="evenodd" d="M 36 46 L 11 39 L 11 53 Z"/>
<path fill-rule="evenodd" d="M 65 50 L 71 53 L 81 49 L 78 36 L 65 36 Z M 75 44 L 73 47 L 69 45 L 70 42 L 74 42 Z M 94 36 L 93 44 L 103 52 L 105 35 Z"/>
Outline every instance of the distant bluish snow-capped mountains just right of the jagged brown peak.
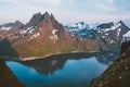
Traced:
<path fill-rule="evenodd" d="M 95 33 L 96 33 L 96 26 L 99 24 L 91 24 L 88 25 L 86 22 L 79 22 L 79 23 L 72 23 L 66 25 L 66 29 L 70 33 L 73 33 L 74 35 L 78 35 L 81 38 L 90 38 L 90 39 L 94 39 L 95 38 Z"/>

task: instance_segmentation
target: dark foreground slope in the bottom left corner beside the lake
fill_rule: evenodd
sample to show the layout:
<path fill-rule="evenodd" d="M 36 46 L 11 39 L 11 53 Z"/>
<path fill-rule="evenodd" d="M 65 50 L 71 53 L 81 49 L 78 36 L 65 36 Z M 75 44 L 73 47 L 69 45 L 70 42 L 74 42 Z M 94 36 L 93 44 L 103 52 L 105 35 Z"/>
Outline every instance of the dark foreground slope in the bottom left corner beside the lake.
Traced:
<path fill-rule="evenodd" d="M 0 59 L 0 87 L 25 87 Z"/>

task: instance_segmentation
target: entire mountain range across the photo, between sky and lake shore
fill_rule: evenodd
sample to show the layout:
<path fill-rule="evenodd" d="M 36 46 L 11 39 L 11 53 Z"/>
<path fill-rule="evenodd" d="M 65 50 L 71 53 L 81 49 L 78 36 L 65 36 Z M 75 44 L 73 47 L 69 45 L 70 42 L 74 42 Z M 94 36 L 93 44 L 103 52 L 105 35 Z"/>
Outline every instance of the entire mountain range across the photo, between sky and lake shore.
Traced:
<path fill-rule="evenodd" d="M 129 37 L 130 28 L 122 21 L 92 25 L 79 22 L 64 26 L 48 12 L 34 14 L 26 25 L 20 21 L 0 25 L 0 45 L 8 40 L 20 58 L 119 51 L 121 42 L 129 40 Z"/>

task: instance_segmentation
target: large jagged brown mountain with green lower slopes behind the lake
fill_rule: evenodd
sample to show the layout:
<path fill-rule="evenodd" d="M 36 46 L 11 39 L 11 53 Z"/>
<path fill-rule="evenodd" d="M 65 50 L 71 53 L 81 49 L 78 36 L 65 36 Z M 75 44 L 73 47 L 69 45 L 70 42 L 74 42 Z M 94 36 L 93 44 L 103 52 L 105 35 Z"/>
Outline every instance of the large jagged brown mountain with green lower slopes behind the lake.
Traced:
<path fill-rule="evenodd" d="M 21 57 L 44 57 L 73 51 L 98 51 L 98 41 L 72 36 L 53 14 L 35 14 L 13 44 Z"/>

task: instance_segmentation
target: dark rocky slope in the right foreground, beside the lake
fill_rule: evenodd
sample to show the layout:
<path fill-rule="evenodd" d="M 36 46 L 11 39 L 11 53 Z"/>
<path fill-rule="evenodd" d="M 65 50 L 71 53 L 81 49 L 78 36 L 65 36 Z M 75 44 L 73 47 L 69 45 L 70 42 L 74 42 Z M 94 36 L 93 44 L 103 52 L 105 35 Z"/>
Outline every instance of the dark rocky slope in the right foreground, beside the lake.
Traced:
<path fill-rule="evenodd" d="M 91 87 L 130 86 L 130 41 L 121 46 L 121 55 L 91 84 Z"/>

